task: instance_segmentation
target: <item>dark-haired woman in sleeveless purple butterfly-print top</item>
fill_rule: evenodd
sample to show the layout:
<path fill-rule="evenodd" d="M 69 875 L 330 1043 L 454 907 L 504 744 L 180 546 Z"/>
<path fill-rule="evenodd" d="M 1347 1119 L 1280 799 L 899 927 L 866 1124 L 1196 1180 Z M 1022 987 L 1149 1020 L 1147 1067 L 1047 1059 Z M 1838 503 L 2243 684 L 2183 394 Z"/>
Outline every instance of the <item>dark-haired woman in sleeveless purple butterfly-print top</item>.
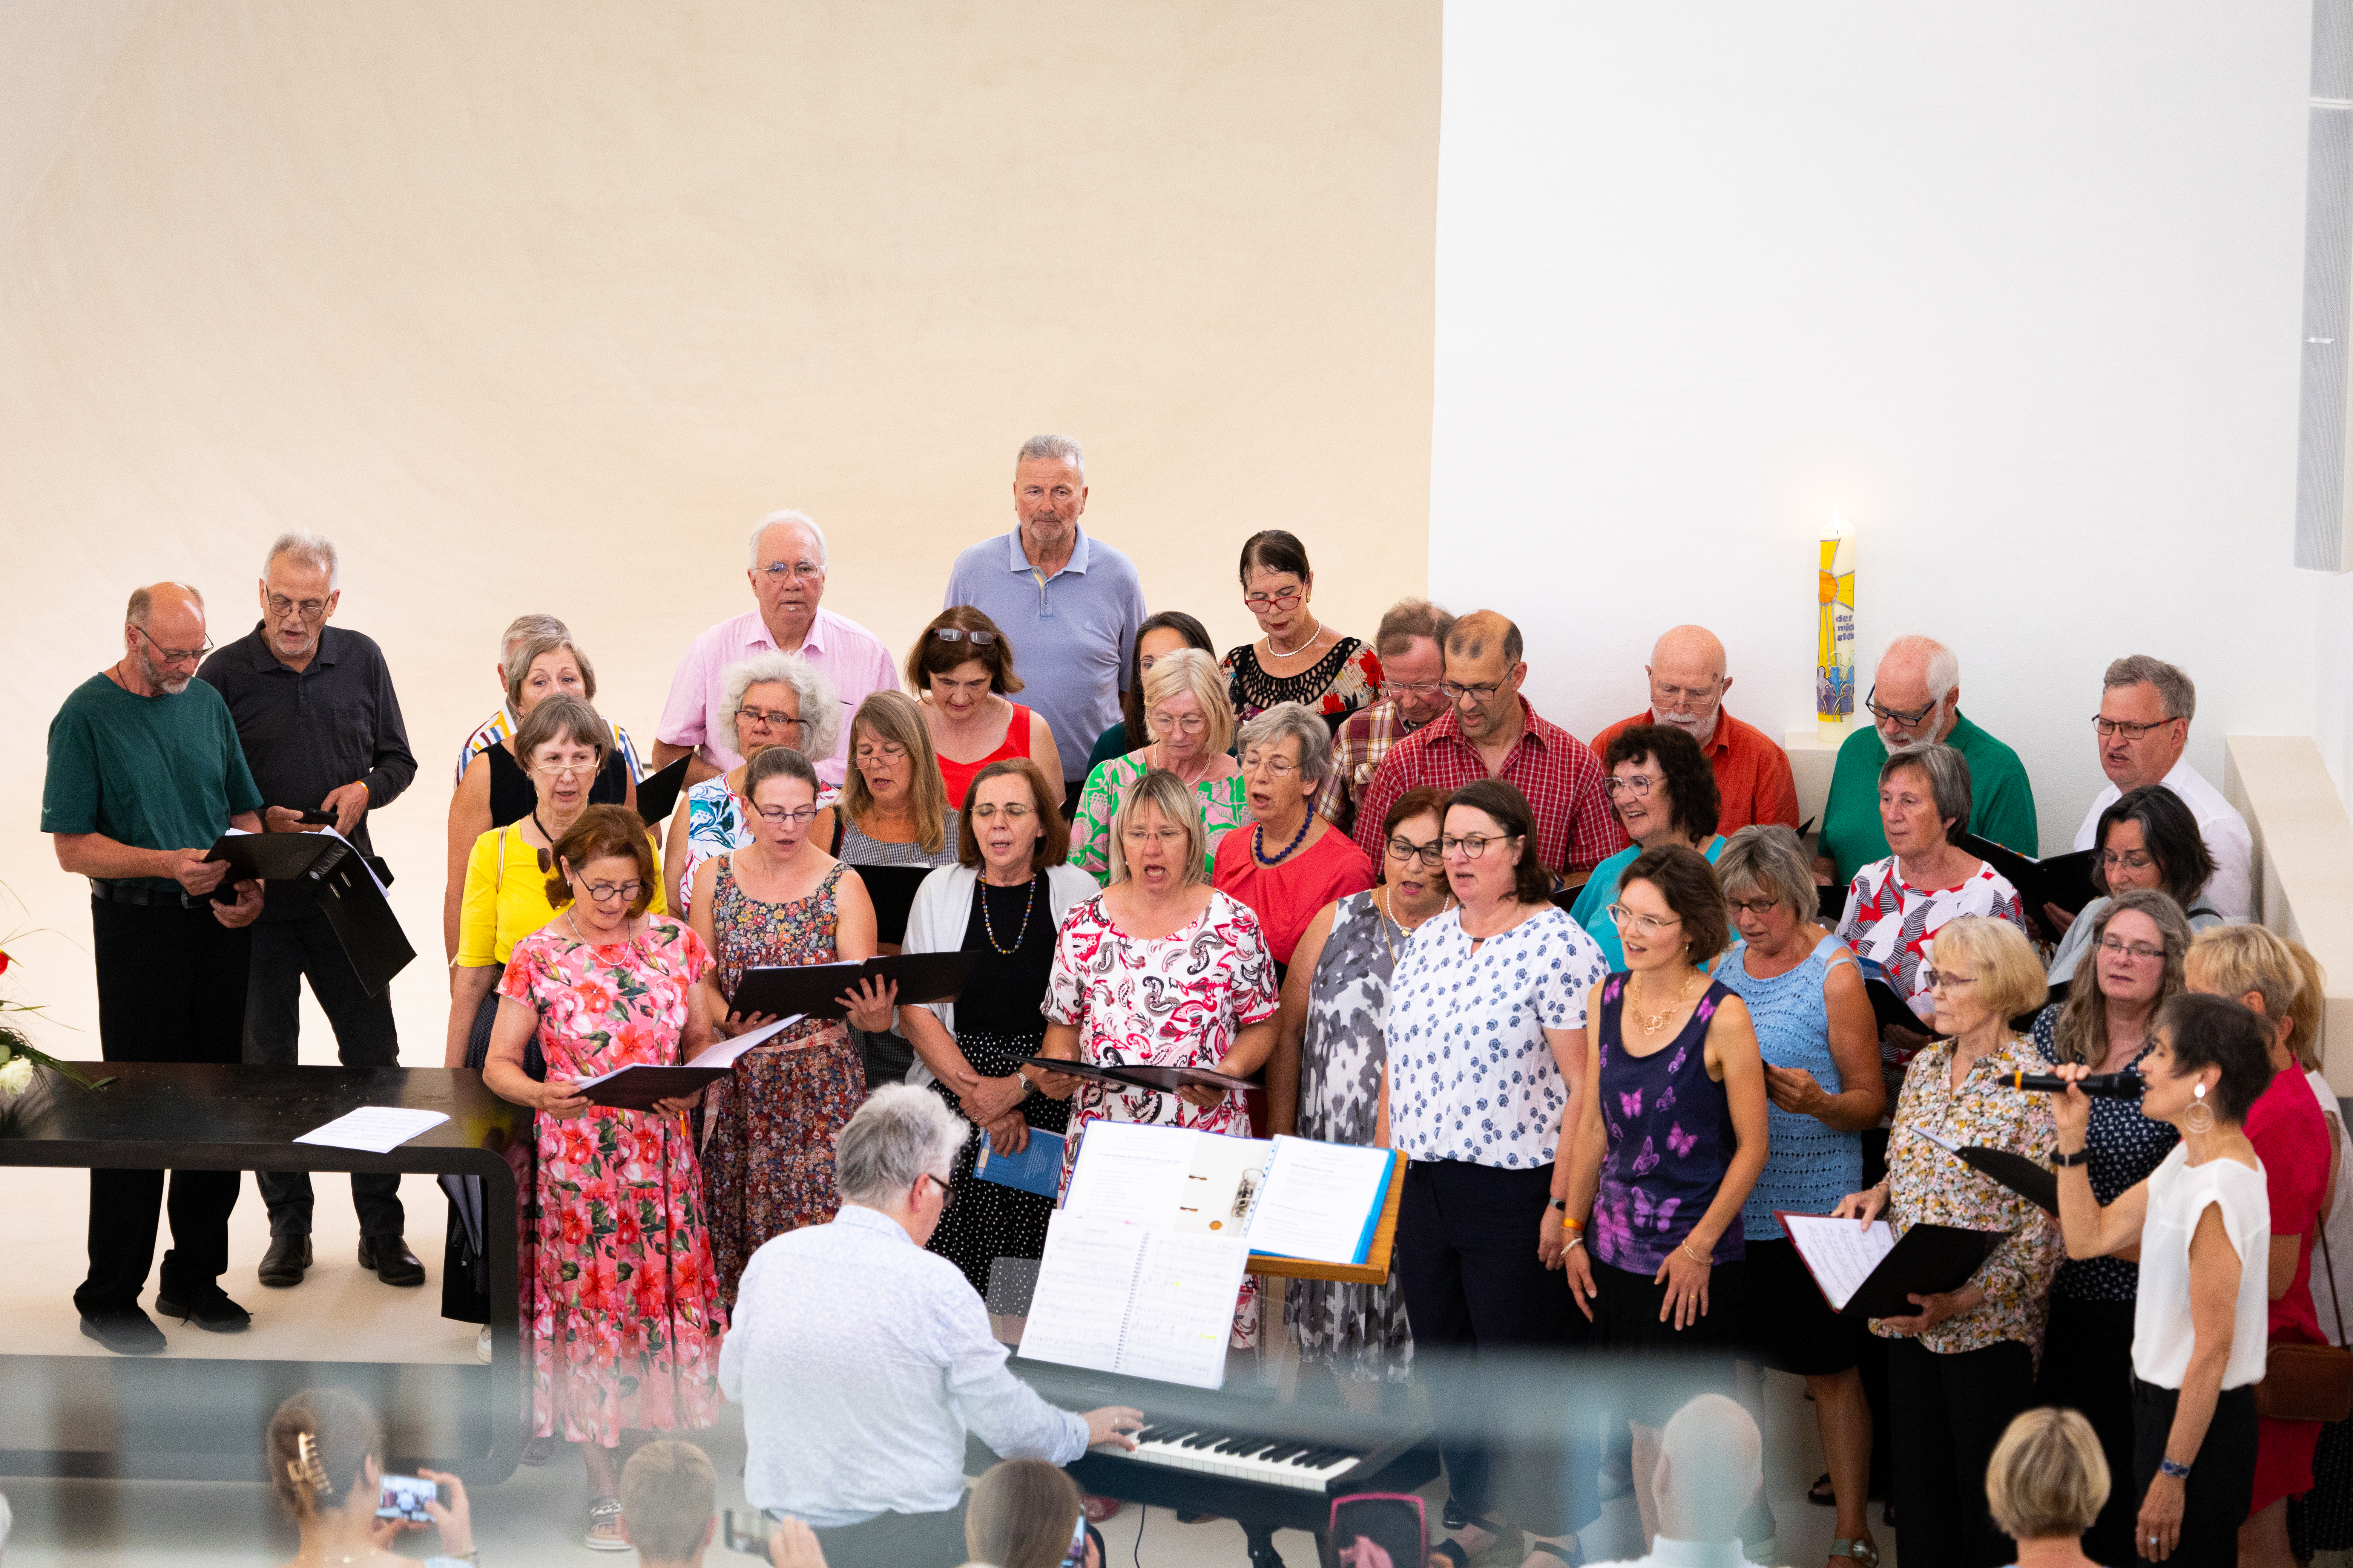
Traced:
<path fill-rule="evenodd" d="M 1680 844 L 1647 849 L 1626 867 L 1612 919 L 1628 969 L 1586 999 L 1595 1093 L 1581 1098 L 1569 1157 L 1567 1272 L 1605 1349 L 1706 1359 L 1697 1378 L 1638 1380 L 1626 1403 L 1652 1535 L 1659 1429 L 1699 1387 L 1732 1387 L 1741 1204 L 1765 1168 L 1765 1060 L 1748 1006 L 1706 976 L 1725 945 L 1715 867 Z"/>

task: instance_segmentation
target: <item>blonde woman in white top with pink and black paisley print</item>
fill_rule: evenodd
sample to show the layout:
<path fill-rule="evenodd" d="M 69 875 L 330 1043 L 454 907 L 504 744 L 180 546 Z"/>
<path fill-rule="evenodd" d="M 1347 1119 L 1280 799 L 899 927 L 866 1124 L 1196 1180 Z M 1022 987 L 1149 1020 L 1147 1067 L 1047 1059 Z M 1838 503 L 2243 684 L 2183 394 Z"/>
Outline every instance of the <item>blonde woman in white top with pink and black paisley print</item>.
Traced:
<path fill-rule="evenodd" d="M 1040 1056 L 1249 1077 L 1275 1044 L 1275 961 L 1259 917 L 1212 889 L 1202 865 L 1200 797 L 1174 773 L 1139 778 L 1111 823 L 1111 886 L 1071 910 L 1054 940 Z M 1151 1121 L 1249 1135 L 1240 1093 L 1108 1091 L 1075 1074 L 1040 1074 L 1056 1100 L 1078 1093 L 1061 1185 L 1089 1121 Z M 1233 1342 L 1259 1342 L 1259 1281 L 1242 1276 Z"/>

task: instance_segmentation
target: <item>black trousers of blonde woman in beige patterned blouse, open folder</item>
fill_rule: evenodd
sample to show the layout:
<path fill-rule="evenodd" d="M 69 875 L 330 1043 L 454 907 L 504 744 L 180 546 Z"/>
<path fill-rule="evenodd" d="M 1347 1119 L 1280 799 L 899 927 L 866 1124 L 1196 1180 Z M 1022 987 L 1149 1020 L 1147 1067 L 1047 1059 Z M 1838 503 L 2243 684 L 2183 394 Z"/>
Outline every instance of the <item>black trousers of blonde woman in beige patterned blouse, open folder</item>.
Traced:
<path fill-rule="evenodd" d="M 1894 1490 L 1904 1568 L 2000 1568 L 2009 1537 L 1986 1509 L 1986 1462 L 2035 1392 L 2035 1359 L 2017 1340 L 1941 1354 L 1887 1342 Z"/>

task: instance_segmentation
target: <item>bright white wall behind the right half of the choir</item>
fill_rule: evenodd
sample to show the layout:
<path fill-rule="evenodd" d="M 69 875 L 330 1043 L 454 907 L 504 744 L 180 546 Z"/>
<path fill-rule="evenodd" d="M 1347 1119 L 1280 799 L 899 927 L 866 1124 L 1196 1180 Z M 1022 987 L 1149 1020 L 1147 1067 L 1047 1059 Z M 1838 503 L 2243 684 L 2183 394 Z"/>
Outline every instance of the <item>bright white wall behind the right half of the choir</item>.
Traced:
<path fill-rule="evenodd" d="M 1864 684 L 1897 632 L 1953 644 L 2045 844 L 2129 651 L 2198 679 L 2217 783 L 2226 729 L 2313 733 L 2325 693 L 2344 785 L 2353 630 L 2315 607 L 2353 599 L 2289 567 L 2308 16 L 1447 5 L 1433 595 L 1513 614 L 1579 736 L 1704 621 L 1779 733 L 1840 508 Z"/>

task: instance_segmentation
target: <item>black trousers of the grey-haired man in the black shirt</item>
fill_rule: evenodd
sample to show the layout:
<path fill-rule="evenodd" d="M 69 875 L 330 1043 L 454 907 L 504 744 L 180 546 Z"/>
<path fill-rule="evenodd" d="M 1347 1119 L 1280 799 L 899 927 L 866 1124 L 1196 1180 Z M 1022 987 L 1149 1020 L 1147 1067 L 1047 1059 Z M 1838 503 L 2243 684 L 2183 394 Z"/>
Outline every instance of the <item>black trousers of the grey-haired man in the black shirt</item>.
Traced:
<path fill-rule="evenodd" d="M 369 997 L 334 938 L 334 926 L 315 907 L 294 919 L 259 919 L 252 926 L 254 964 L 245 985 L 245 1060 L 256 1067 L 292 1067 L 301 1060 L 301 983 L 334 1025 L 334 1053 L 346 1067 L 398 1067 L 393 992 Z M 311 1173 L 254 1171 L 261 1201 L 271 1211 L 273 1237 L 311 1234 Z M 355 1171 L 351 1206 L 362 1237 L 398 1237 L 400 1178 Z"/>

